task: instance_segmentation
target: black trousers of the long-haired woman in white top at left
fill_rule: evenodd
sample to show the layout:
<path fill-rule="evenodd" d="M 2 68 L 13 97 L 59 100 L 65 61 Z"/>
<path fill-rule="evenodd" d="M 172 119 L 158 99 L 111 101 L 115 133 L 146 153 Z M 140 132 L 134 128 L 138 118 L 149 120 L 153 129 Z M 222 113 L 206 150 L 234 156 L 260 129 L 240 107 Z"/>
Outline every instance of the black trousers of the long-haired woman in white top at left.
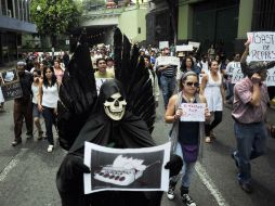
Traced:
<path fill-rule="evenodd" d="M 43 117 L 44 117 L 44 125 L 45 125 L 45 134 L 49 141 L 49 144 L 54 145 L 53 141 L 53 125 L 55 125 L 55 115 L 54 108 L 50 108 L 43 106 Z"/>

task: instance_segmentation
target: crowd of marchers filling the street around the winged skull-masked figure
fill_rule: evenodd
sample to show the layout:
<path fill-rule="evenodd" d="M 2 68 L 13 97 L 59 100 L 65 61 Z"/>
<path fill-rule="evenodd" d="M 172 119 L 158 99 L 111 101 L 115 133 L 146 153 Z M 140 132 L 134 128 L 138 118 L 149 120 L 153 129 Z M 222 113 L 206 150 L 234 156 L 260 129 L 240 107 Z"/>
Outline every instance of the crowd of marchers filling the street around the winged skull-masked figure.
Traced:
<path fill-rule="evenodd" d="M 214 141 L 214 129 L 222 121 L 224 105 L 233 108 L 236 151 L 232 157 L 239 169 L 238 182 L 244 191 L 252 192 L 250 159 L 261 156 L 266 150 L 266 110 L 269 104 L 275 104 L 275 94 L 274 87 L 267 90 L 263 83 L 266 68 L 258 65 L 257 69 L 252 69 L 250 64 L 246 64 L 248 50 L 249 42 L 246 43 L 244 54 L 235 53 L 231 61 L 217 53 L 213 47 L 200 56 L 193 52 L 175 52 L 171 48 L 159 50 L 148 47 L 140 50 L 140 56 L 145 61 L 145 69 L 149 72 L 156 105 L 161 90 L 166 108 L 165 119 L 173 125 L 170 138 L 173 152 L 183 159 L 181 197 L 186 205 L 196 205 L 188 195 L 188 189 L 199 153 L 199 141 L 202 138 L 206 143 Z M 158 56 L 170 56 L 171 53 L 180 59 L 180 64 L 159 65 Z M 110 46 L 93 47 L 90 54 L 95 78 L 115 78 Z M 32 64 L 29 63 L 30 60 Z M 31 53 L 27 55 L 26 61 L 17 63 L 23 96 L 14 100 L 13 146 L 22 143 L 25 119 L 27 139 L 32 138 L 35 123 L 38 140 L 47 138 L 48 152 L 54 150 L 53 128 L 56 129 L 58 87 L 68 62 L 69 55 L 65 52 L 62 56 L 54 57 L 49 53 Z M 245 66 L 246 77 L 236 83 L 232 82 L 234 69 Z M 1 90 L 0 102 L 3 110 Z M 183 113 L 181 103 L 206 103 L 206 123 L 180 121 Z M 45 133 L 41 127 L 41 117 L 44 118 Z M 271 127 L 271 131 L 275 132 L 274 130 Z M 169 199 L 174 198 L 178 179 L 176 176 L 170 180 Z"/>

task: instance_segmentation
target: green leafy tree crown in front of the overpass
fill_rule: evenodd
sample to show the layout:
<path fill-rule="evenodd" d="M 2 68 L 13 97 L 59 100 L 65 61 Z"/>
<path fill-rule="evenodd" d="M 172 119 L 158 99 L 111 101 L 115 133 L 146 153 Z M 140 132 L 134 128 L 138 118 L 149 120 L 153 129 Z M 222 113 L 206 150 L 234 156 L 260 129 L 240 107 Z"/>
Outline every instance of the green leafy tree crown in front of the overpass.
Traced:
<path fill-rule="evenodd" d="M 30 17 L 40 35 L 69 34 L 79 26 L 81 13 L 81 2 L 75 0 L 32 0 L 30 4 Z"/>

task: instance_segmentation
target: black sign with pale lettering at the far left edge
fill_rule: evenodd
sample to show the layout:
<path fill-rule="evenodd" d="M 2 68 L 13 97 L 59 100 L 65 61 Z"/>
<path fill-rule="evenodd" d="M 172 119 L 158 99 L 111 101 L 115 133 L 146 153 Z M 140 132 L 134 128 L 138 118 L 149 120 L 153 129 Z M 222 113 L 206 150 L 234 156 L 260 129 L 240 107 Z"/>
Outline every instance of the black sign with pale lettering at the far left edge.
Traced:
<path fill-rule="evenodd" d="M 1 89 L 4 101 L 23 96 L 23 91 L 15 68 L 1 70 L 0 78 L 2 79 Z"/>

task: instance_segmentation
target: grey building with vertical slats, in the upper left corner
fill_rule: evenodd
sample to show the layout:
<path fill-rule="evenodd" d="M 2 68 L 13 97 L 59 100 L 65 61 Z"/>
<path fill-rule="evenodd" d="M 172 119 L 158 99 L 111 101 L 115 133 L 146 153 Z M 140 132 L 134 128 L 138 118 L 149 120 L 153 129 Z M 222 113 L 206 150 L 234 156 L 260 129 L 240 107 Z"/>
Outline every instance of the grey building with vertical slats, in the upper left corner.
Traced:
<path fill-rule="evenodd" d="M 22 35 L 36 33 L 29 20 L 30 0 L 0 0 L 0 64 L 21 57 Z"/>

